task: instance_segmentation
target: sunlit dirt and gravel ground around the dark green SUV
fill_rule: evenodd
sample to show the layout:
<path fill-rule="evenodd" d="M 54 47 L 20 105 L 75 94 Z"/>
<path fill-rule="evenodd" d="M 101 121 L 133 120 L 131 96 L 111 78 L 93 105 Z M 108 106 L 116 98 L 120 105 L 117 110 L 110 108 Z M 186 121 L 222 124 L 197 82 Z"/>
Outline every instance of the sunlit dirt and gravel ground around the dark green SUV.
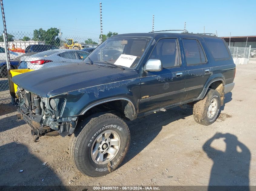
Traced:
<path fill-rule="evenodd" d="M 210 126 L 179 107 L 128 122 L 125 161 L 99 178 L 75 170 L 69 137 L 34 143 L 15 108 L 0 105 L 0 185 L 256 185 L 256 65 L 238 65 L 235 83 Z"/>

